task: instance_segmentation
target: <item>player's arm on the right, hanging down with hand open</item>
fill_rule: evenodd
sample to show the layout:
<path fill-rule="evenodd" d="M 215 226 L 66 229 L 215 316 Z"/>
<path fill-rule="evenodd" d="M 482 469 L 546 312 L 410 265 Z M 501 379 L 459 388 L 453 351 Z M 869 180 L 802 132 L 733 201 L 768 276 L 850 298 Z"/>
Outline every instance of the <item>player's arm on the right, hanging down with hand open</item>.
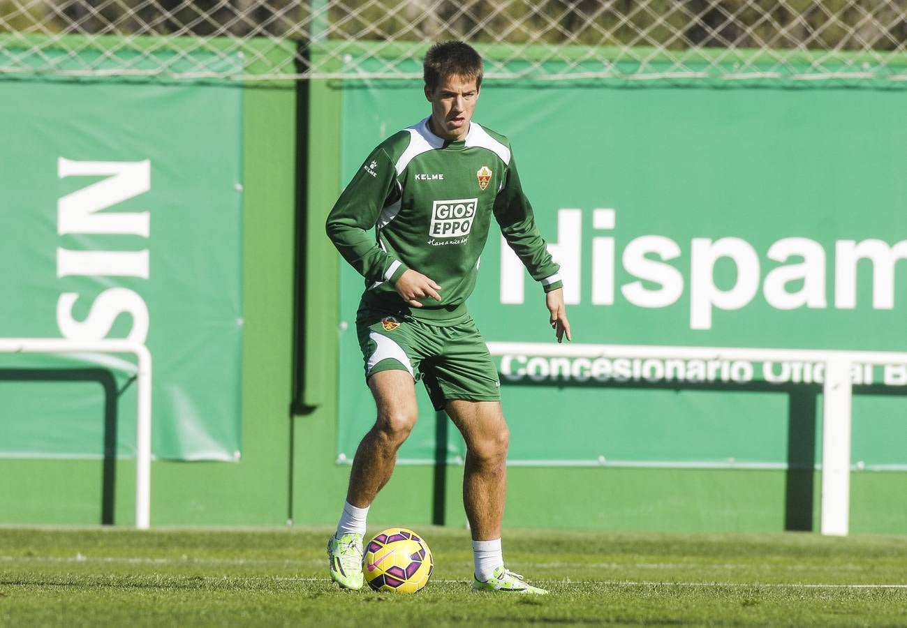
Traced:
<path fill-rule="evenodd" d="M 494 217 L 501 226 L 507 244 L 520 258 L 532 278 L 541 282 L 545 304 L 551 314 L 551 328 L 561 343 L 564 335 L 571 341 L 570 322 L 564 305 L 563 283 L 558 266 L 548 252 L 548 245 L 535 226 L 532 205 L 522 192 L 520 176 L 511 157 L 504 184 L 494 201 Z"/>

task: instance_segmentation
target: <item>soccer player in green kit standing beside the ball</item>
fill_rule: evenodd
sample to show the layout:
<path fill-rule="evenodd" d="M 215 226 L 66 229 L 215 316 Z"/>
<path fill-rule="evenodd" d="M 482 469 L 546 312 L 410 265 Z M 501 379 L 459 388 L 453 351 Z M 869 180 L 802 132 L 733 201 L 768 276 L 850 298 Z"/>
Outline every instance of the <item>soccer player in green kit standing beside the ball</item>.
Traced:
<path fill-rule="evenodd" d="M 377 406 L 327 544 L 331 577 L 343 588 L 363 584 L 366 515 L 413 429 L 414 382 L 421 379 L 466 442 L 473 590 L 547 593 L 507 569 L 502 557 L 509 431 L 497 370 L 465 305 L 492 220 L 541 283 L 558 342 L 571 340 L 571 330 L 560 268 L 535 226 L 510 144 L 473 122 L 482 76 L 482 57 L 471 46 L 434 44 L 424 58 L 431 115 L 378 145 L 327 217 L 328 237 L 366 279 L 356 330 Z"/>

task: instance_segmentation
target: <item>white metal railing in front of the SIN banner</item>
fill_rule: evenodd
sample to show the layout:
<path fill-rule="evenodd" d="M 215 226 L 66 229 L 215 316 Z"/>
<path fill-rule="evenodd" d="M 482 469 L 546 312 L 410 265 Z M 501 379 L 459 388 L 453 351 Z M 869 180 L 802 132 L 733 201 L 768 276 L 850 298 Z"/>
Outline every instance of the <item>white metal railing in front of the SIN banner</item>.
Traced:
<path fill-rule="evenodd" d="M 73 341 L 64 338 L 0 338 L 0 353 L 132 353 L 138 412 L 135 429 L 135 527 L 151 526 L 151 352 L 128 340 Z"/>

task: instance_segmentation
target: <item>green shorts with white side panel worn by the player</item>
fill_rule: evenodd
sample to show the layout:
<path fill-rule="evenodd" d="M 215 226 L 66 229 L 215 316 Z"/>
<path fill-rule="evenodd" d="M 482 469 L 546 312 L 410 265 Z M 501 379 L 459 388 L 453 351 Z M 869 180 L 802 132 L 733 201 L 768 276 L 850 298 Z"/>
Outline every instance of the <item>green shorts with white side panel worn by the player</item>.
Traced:
<path fill-rule="evenodd" d="M 381 371 L 406 371 L 422 380 L 434 409 L 452 400 L 501 401 L 501 382 L 482 335 L 465 314 L 427 324 L 406 314 L 360 308 L 356 314 L 366 380 Z"/>

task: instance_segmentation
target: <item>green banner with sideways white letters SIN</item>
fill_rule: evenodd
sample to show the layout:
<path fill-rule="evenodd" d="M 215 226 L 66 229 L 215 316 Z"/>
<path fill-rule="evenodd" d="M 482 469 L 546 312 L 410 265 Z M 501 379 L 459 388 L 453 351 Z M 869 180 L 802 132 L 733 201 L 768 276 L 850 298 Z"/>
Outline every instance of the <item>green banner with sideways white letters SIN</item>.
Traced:
<path fill-rule="evenodd" d="M 161 459 L 239 458 L 242 92 L 0 82 L 0 336 L 145 343 Z M 134 452 L 129 356 L 0 354 L 0 456 Z"/>

